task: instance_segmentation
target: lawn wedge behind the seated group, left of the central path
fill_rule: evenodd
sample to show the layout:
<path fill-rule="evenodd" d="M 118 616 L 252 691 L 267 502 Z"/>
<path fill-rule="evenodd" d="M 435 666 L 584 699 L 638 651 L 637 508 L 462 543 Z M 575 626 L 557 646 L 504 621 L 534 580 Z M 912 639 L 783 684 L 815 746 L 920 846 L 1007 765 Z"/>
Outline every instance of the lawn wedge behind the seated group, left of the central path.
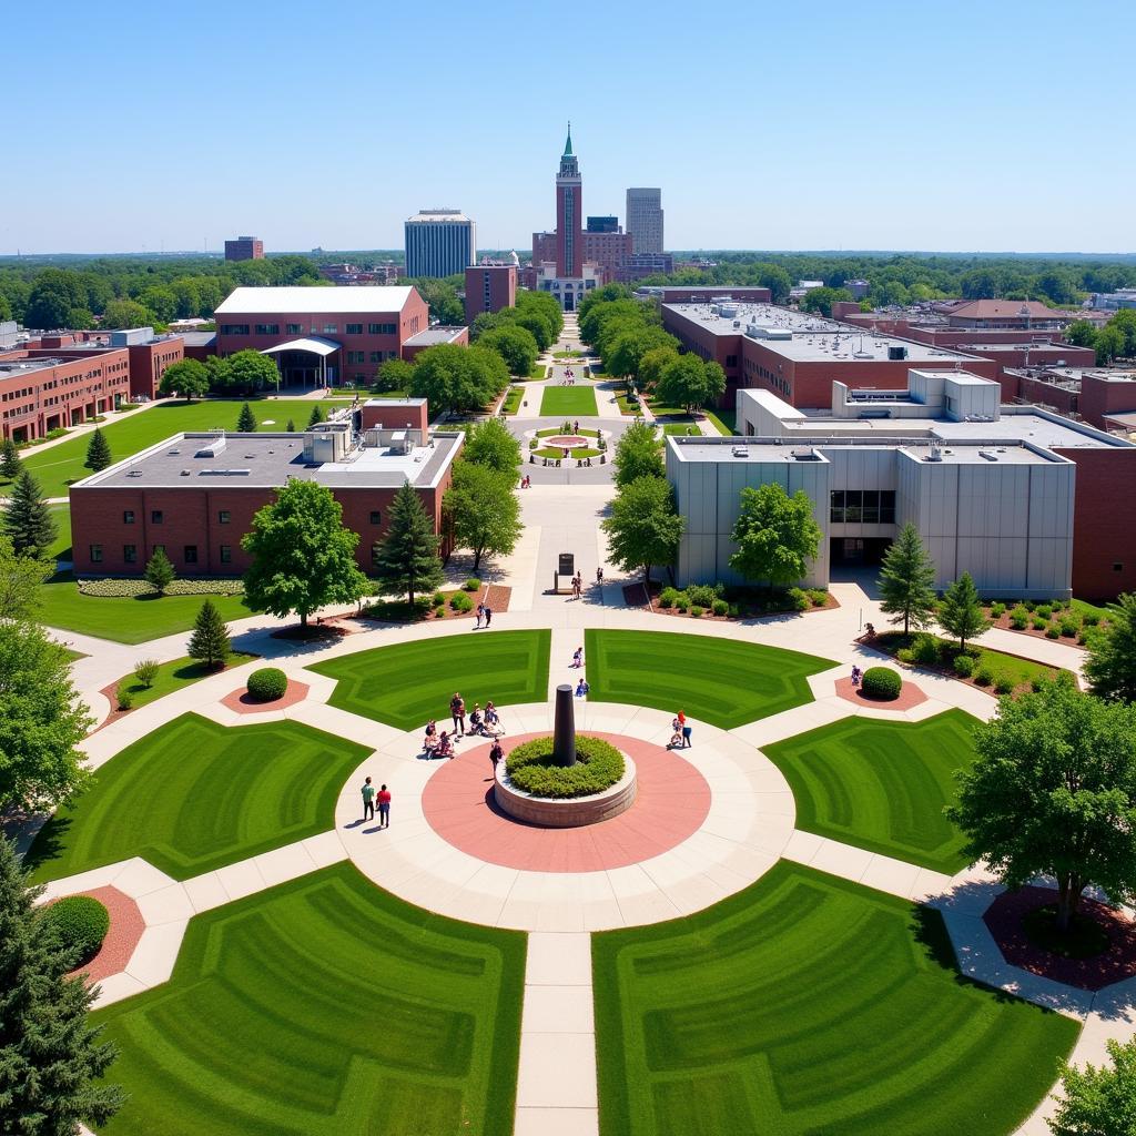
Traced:
<path fill-rule="evenodd" d="M 309 670 L 336 680 L 333 707 L 415 729 L 449 719 L 460 691 L 467 712 L 475 702 L 499 707 L 543 702 L 549 691 L 548 630 L 462 630 L 456 635 L 383 646 L 319 662 Z M 508 726 L 508 722 L 506 722 Z"/>

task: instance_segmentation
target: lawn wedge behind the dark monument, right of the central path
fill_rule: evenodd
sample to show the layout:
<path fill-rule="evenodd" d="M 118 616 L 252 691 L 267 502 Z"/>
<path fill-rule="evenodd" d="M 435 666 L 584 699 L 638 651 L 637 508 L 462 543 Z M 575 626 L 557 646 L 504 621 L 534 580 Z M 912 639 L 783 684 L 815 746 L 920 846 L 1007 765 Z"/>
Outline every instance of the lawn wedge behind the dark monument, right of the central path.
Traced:
<path fill-rule="evenodd" d="M 588 628 L 584 645 L 590 699 L 685 710 L 722 729 L 811 702 L 808 676 L 836 666 L 796 651 L 669 632 Z"/>

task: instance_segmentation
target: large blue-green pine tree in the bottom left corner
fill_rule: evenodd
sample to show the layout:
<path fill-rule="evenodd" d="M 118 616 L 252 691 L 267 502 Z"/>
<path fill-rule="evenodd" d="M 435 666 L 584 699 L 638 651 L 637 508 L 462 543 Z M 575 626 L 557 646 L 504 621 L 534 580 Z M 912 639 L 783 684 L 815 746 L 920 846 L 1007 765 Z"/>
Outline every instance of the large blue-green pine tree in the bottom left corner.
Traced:
<path fill-rule="evenodd" d="M 42 891 L 0 837 L 0 1111 L 5 1131 L 72 1136 L 80 1121 L 101 1127 L 125 1097 L 102 1080 L 118 1054 L 86 1021 L 97 987 L 65 977 L 76 952 L 36 910 Z"/>

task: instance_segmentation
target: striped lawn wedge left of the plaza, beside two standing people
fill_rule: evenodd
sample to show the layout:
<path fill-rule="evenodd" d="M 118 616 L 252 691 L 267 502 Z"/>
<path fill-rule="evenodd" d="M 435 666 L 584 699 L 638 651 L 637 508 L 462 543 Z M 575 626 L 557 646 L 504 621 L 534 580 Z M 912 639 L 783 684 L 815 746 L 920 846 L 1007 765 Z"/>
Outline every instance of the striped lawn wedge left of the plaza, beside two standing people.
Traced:
<path fill-rule="evenodd" d="M 127 746 L 28 853 L 36 879 L 142 857 L 175 879 L 326 832 L 367 749 L 294 721 L 183 715 Z"/>

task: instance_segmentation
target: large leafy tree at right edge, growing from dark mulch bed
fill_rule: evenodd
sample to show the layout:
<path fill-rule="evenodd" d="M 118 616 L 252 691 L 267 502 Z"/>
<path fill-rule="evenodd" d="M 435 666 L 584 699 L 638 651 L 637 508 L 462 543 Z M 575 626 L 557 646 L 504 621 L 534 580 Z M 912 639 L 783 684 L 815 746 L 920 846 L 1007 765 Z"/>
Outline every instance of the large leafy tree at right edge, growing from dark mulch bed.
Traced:
<path fill-rule="evenodd" d="M 1103 702 L 1059 675 L 999 701 L 975 729 L 977 759 L 960 771 L 947 817 L 963 852 L 1008 887 L 1058 883 L 1058 928 L 1096 885 L 1114 903 L 1136 899 L 1136 707 Z"/>

